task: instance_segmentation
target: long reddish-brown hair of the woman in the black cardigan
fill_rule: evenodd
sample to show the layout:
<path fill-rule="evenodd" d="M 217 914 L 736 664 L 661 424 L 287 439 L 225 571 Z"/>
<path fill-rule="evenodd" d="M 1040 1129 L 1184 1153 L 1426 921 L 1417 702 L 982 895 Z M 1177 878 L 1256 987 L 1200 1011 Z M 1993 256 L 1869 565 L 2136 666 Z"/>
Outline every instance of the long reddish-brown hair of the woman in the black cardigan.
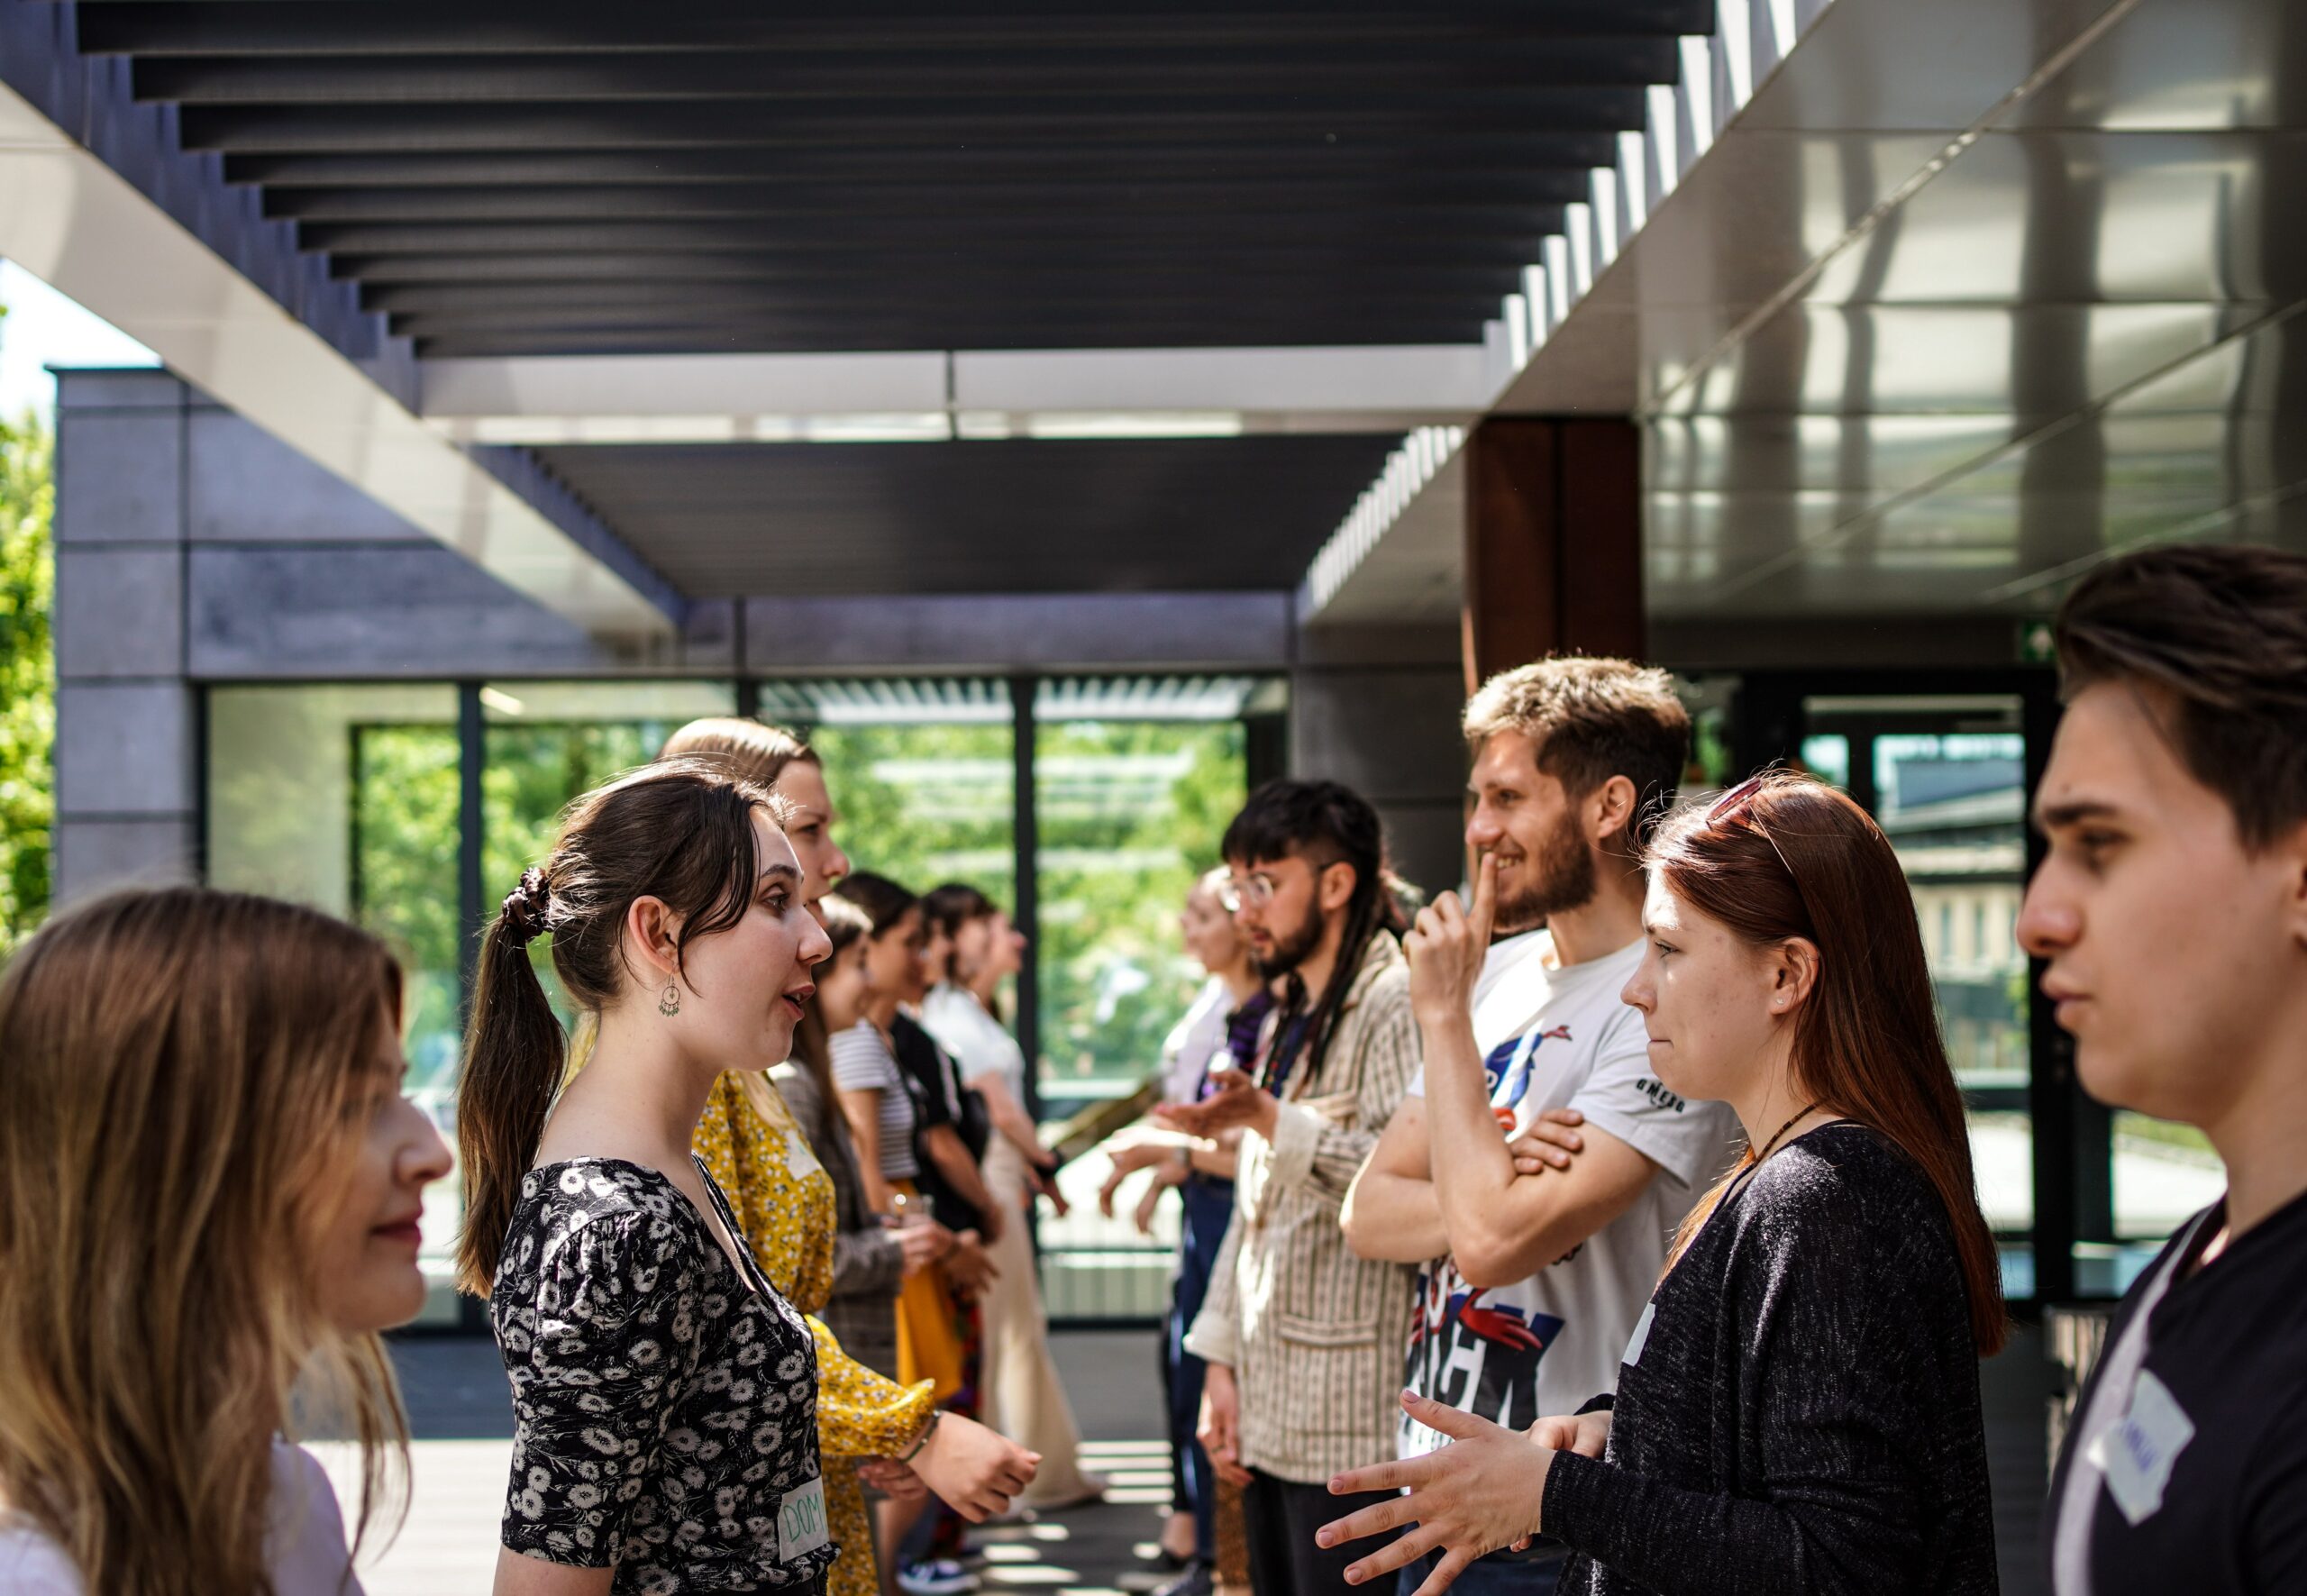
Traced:
<path fill-rule="evenodd" d="M 1979 1356 L 2000 1352 L 2009 1326 L 1996 1241 L 1979 1213 L 1963 1093 L 1938 1033 L 1915 899 L 1889 840 L 1825 782 L 1765 770 L 1712 807 L 1693 803 L 1668 816 L 1650 844 L 1650 869 L 1751 948 L 1797 936 L 1818 948 L 1818 980 L 1795 1015 L 1795 1098 L 1866 1126 L 1915 1162 L 1945 1204 Z M 1668 1268 L 1753 1160 L 1749 1146 L 1698 1199 Z"/>

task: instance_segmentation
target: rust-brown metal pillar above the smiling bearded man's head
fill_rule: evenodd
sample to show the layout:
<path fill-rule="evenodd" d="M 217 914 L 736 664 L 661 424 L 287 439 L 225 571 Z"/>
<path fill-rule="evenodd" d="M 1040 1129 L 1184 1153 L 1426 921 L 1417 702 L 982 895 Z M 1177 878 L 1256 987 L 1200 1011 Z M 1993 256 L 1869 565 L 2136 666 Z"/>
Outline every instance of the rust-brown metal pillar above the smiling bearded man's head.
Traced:
<path fill-rule="evenodd" d="M 1467 692 L 1550 653 L 1640 660 L 1643 441 L 1633 422 L 1493 417 L 1465 447 Z"/>

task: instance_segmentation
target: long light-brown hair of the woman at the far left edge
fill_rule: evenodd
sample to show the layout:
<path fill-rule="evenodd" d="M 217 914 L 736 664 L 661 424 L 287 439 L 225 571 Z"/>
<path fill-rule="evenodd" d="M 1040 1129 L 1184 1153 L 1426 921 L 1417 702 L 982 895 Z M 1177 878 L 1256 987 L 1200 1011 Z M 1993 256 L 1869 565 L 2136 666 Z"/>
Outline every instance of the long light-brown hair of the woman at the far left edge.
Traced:
<path fill-rule="evenodd" d="M 360 1444 L 355 1545 L 408 1428 L 376 1335 L 321 1322 L 330 1169 L 401 973 L 311 909 L 138 890 L 0 976 L 0 1499 L 104 1596 L 272 1591 L 272 1437 Z"/>

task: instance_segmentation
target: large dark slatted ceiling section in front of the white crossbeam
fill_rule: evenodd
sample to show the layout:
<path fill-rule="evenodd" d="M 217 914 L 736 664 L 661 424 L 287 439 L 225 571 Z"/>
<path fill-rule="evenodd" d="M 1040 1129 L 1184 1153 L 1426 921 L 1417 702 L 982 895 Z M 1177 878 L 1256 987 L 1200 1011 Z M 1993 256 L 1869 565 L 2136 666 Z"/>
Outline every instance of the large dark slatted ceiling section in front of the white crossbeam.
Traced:
<path fill-rule="evenodd" d="M 83 0 L 424 355 L 1474 341 L 1712 0 Z"/>

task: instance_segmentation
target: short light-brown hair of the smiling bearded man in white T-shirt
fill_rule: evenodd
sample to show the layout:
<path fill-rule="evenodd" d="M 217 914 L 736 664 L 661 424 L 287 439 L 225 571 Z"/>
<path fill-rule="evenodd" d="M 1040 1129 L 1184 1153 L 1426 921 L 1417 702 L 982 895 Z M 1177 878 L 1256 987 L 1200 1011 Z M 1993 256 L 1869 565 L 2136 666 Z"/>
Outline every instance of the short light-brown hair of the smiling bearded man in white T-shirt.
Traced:
<path fill-rule="evenodd" d="M 1626 844 L 1643 846 L 1682 786 L 1691 715 L 1675 678 L 1633 660 L 1557 655 L 1500 671 L 1465 703 L 1465 740 L 1476 750 L 1500 731 L 1532 743 L 1539 770 L 1573 800 L 1613 775 L 1633 782 Z"/>

